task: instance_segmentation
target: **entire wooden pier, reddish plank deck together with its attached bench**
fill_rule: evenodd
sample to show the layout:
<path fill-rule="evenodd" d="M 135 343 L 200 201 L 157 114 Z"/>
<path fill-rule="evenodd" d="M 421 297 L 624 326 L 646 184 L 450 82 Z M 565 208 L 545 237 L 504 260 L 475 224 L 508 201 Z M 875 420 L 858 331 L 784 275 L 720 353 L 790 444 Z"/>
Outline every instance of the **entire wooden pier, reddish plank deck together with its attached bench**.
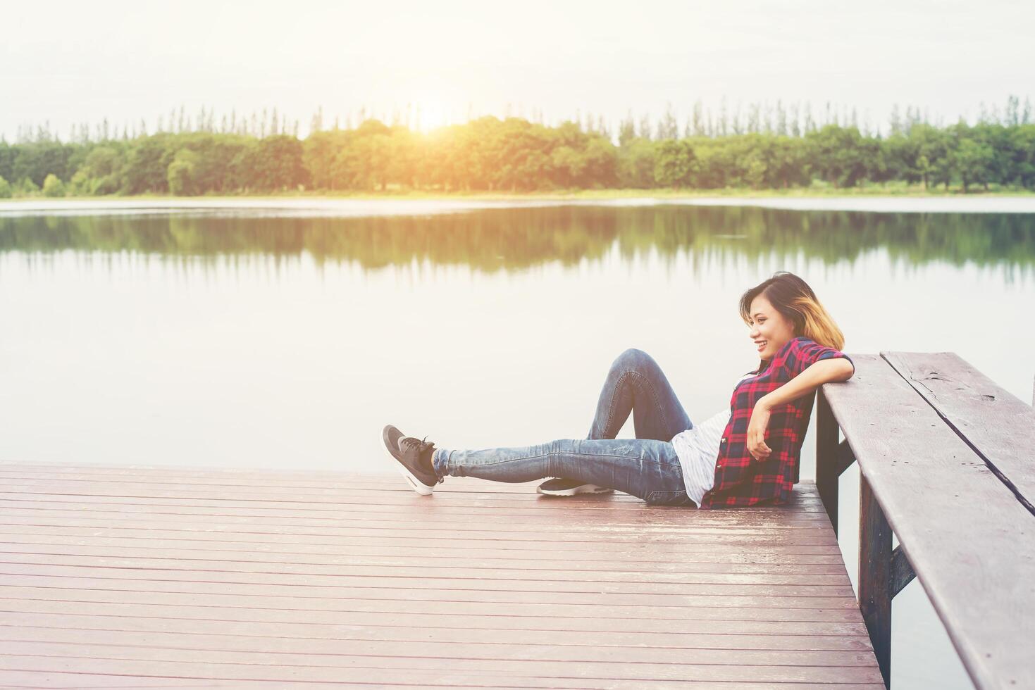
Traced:
<path fill-rule="evenodd" d="M 0 463 L 0 686 L 880 690 L 917 577 L 976 687 L 1035 687 L 1035 412 L 952 353 L 853 359 L 785 506 Z"/>

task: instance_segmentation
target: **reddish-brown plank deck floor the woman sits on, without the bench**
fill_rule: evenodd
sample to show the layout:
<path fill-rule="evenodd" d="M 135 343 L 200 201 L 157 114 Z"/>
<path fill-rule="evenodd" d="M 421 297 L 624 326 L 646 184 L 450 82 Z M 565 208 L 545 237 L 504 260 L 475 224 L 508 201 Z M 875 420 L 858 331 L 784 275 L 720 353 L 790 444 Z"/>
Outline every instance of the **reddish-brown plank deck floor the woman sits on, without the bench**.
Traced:
<path fill-rule="evenodd" d="M 883 687 L 815 484 L 0 464 L 4 688 Z"/>

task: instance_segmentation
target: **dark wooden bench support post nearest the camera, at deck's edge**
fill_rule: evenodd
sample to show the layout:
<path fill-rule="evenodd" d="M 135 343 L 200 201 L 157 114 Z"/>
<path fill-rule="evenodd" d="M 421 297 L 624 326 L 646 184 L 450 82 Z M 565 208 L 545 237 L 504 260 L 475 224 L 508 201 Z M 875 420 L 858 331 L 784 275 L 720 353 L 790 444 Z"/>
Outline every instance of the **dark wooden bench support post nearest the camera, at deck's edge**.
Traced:
<path fill-rule="evenodd" d="M 884 686 L 891 683 L 891 528 L 866 478 L 859 475 L 859 610 Z"/>

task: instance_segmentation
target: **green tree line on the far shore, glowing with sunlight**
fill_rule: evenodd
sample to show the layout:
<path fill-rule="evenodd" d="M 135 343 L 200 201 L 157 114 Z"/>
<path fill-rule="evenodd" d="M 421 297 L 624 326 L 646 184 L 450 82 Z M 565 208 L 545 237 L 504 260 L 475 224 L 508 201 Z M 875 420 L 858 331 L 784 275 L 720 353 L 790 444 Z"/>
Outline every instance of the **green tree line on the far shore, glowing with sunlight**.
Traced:
<path fill-rule="evenodd" d="M 274 112 L 274 117 L 276 116 Z M 1012 97 L 1002 115 L 931 124 L 910 111 L 890 131 L 854 115 L 820 123 L 782 110 L 749 110 L 730 125 L 697 110 L 685 127 L 671 112 L 652 125 L 630 116 L 612 137 L 602 121 L 558 125 L 480 117 L 431 132 L 365 119 L 304 138 L 286 120 L 258 131 L 194 129 L 122 137 L 107 125 L 62 142 L 0 140 L 0 197 L 235 194 L 387 190 L 441 192 L 593 188 L 783 189 L 908 184 L 924 189 L 1035 189 L 1035 123 Z M 182 127 L 183 122 L 180 122 Z"/>

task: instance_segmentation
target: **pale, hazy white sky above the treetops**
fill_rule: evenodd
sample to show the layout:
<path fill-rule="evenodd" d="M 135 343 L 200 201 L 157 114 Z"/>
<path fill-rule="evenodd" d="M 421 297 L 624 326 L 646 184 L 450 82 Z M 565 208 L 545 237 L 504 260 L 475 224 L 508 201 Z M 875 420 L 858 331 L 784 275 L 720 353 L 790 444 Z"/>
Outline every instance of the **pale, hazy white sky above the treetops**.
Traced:
<path fill-rule="evenodd" d="M 421 129 L 468 115 L 685 121 L 694 101 L 830 102 L 886 127 L 892 107 L 974 120 L 1035 98 L 1035 3 L 226 2 L 0 0 L 0 134 L 263 109 L 307 131 L 318 108 L 393 111 Z M 417 112 L 419 111 L 419 120 Z"/>

